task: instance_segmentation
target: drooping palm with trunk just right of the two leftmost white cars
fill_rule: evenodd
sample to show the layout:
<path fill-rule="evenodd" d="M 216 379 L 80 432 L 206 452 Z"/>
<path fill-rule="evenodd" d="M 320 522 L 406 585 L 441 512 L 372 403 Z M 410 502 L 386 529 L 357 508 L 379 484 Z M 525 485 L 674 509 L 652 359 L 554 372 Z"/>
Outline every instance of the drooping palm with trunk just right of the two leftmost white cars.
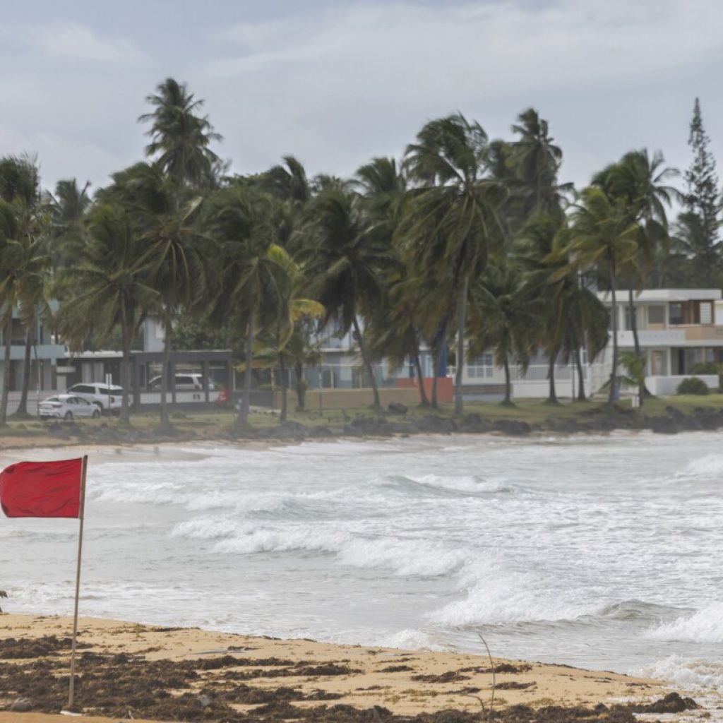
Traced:
<path fill-rule="evenodd" d="M 158 292 L 146 281 L 145 242 L 131 213 L 119 204 L 96 205 L 87 218 L 87 243 L 73 266 L 61 268 L 56 328 L 74 348 L 90 333 L 100 341 L 121 332 L 121 421 L 128 424 L 130 355 L 134 334 Z"/>

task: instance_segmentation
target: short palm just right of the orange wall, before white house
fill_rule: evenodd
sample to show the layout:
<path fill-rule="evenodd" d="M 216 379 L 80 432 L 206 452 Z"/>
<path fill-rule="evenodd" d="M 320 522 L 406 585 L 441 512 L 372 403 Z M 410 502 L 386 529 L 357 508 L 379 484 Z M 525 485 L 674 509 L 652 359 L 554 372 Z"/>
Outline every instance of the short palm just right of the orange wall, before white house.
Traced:
<path fill-rule="evenodd" d="M 497 367 L 505 369 L 504 404 L 512 404 L 510 361 L 527 370 L 536 351 L 537 303 L 521 270 L 508 262 L 488 265 L 471 288 L 469 359 L 493 351 Z"/>

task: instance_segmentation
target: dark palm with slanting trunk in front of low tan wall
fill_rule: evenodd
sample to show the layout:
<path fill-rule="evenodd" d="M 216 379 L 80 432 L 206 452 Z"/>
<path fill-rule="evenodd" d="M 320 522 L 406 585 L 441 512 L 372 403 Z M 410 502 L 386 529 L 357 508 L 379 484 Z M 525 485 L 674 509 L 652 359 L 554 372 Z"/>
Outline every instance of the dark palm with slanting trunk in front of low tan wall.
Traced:
<path fill-rule="evenodd" d="M 370 223 L 363 200 L 351 192 L 332 187 L 318 194 L 308 210 L 312 225 L 307 273 L 316 299 L 326 309 L 322 326 L 333 322 L 340 336 L 354 329 L 379 410 L 382 403 L 359 316 L 371 316 L 383 300 L 382 273 L 393 260 L 388 240 Z"/>

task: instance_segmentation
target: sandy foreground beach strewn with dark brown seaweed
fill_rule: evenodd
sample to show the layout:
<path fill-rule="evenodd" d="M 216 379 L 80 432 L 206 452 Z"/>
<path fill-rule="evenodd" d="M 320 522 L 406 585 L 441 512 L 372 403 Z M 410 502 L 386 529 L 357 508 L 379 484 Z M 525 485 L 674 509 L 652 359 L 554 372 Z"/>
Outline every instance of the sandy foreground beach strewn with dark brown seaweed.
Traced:
<path fill-rule="evenodd" d="M 584 709 L 595 719 L 605 720 L 607 711 L 617 722 L 625 721 L 625 715 L 632 722 L 633 712 L 670 693 L 660 681 L 563 665 L 495 657 L 491 666 L 487 654 L 281 640 L 88 617 L 79 620 L 78 629 L 81 680 L 76 699 L 99 722 L 129 718 L 128 713 L 138 720 L 173 720 L 179 714 L 179 719 L 194 719 L 194 706 L 197 714 L 204 713 L 199 701 L 210 707 L 199 718 L 210 720 L 236 720 L 234 711 L 254 720 L 473 720 L 479 719 L 482 704 L 489 706 L 493 677 L 496 717 L 502 719 L 526 720 L 530 711 L 538 711 L 539 721 L 584 719 Z M 22 714 L 26 723 L 67 720 L 50 711 L 56 703 L 62 706 L 64 691 L 67 695 L 71 631 L 70 617 L 0 615 L 0 671 L 6 675 L 6 691 L 0 693 L 0 711 L 6 711 L 0 712 L 0 722 L 20 719 L 7 711 L 19 697 L 30 698 L 33 705 L 33 712 Z M 30 675 L 29 690 L 18 685 L 7 690 L 9 666 Z M 35 700 L 33 685 L 39 688 L 40 678 L 33 679 L 33 669 L 44 679 L 51 670 L 61 676 L 50 693 Z M 142 695 L 127 690 L 126 676 L 148 683 Z M 116 692 L 104 693 L 107 686 L 101 685 L 91 693 L 93 681 L 105 678 L 114 680 Z M 124 703 L 118 696 L 125 696 Z M 630 709 L 630 701 L 640 705 Z M 442 711 L 455 711 L 458 717 L 445 718 Z"/>

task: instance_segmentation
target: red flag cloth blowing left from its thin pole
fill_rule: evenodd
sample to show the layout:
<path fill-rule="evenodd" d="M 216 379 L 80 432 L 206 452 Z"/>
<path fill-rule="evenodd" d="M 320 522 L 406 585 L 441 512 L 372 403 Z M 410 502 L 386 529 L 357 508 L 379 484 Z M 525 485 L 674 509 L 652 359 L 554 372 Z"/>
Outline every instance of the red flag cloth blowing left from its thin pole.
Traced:
<path fill-rule="evenodd" d="M 7 517 L 79 517 L 82 458 L 18 462 L 0 472 Z"/>

